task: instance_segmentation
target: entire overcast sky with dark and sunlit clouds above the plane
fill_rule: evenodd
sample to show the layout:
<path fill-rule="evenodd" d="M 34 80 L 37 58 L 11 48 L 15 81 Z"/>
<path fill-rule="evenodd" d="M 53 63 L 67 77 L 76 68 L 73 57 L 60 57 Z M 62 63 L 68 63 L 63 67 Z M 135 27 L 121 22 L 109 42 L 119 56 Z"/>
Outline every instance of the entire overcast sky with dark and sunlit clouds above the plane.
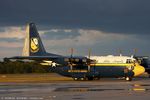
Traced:
<path fill-rule="evenodd" d="M 0 57 L 21 55 L 34 22 L 48 52 L 150 56 L 149 0 L 0 0 Z"/>

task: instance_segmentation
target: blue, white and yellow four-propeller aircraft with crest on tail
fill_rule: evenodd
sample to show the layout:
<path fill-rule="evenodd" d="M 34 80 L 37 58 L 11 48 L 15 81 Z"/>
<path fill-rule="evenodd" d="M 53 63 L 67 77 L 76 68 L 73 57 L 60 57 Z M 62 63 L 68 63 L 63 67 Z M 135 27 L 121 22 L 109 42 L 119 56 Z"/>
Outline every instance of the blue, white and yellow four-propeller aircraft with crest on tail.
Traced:
<path fill-rule="evenodd" d="M 128 56 L 62 56 L 47 53 L 34 23 L 27 25 L 23 56 L 7 59 L 28 59 L 39 62 L 51 62 L 54 72 L 72 77 L 74 80 L 93 80 L 102 77 L 124 77 L 131 81 L 133 77 L 144 73 L 145 69 L 133 57 Z"/>

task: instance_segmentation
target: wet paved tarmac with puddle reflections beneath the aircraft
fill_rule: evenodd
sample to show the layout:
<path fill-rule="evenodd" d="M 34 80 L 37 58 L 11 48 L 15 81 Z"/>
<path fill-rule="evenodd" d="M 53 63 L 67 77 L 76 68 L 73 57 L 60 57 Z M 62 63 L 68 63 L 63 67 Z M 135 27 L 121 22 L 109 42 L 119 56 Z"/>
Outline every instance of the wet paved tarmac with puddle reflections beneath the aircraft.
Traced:
<path fill-rule="evenodd" d="M 0 83 L 0 100 L 150 100 L 150 78 Z"/>

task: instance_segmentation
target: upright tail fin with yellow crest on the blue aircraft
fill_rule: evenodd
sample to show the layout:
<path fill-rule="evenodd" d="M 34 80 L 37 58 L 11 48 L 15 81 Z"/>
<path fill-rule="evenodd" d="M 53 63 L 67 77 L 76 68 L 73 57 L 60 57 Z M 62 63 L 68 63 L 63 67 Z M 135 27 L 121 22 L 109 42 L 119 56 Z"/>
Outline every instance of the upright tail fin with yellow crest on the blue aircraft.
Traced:
<path fill-rule="evenodd" d="M 22 56 L 44 56 L 45 48 L 34 23 L 27 25 Z"/>

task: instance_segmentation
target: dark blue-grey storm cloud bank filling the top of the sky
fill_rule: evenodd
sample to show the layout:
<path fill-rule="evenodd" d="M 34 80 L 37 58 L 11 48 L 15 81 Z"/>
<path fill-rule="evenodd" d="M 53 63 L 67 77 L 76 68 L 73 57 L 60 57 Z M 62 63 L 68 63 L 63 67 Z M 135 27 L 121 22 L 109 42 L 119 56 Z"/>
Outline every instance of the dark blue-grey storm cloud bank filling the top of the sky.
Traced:
<path fill-rule="evenodd" d="M 0 25 L 149 33 L 149 0 L 1 0 Z"/>

